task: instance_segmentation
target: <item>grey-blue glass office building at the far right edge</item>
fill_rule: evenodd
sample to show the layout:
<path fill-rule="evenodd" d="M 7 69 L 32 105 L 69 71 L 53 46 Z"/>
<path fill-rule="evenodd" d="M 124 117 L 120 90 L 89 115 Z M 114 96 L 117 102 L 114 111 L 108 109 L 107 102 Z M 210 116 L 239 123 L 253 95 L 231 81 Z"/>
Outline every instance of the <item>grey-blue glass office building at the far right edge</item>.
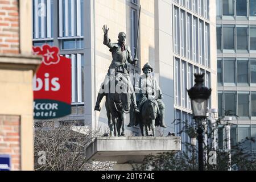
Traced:
<path fill-rule="evenodd" d="M 256 137 L 256 1 L 217 0 L 216 5 L 218 114 L 233 115 L 234 145 Z M 219 131 L 219 138 L 224 135 Z M 246 147 L 255 150 L 256 144 Z"/>

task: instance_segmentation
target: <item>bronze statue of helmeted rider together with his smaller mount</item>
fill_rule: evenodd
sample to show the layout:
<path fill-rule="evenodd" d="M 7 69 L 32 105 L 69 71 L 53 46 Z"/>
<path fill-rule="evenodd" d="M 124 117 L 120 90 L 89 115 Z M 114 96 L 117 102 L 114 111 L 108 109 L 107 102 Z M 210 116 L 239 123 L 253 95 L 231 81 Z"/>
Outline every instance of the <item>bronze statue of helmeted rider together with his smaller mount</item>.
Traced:
<path fill-rule="evenodd" d="M 138 107 L 141 111 L 137 114 L 136 121 L 130 120 L 129 126 L 140 125 L 142 136 L 144 136 L 143 125 L 148 135 L 148 129 L 152 128 L 155 135 L 155 126 L 167 127 L 164 123 L 164 103 L 162 101 L 162 90 L 158 81 L 152 76 L 153 68 L 150 64 L 145 64 L 142 68 L 143 75 L 136 82 L 135 91 L 138 101 Z"/>

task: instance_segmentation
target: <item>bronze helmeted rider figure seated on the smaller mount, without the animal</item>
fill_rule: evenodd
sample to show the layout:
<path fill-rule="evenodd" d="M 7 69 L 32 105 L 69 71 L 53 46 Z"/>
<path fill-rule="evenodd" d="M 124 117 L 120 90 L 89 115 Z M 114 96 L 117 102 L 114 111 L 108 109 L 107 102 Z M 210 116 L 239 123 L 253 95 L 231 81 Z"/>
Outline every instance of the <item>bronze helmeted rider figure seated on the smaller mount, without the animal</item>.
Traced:
<path fill-rule="evenodd" d="M 165 106 L 162 101 L 163 94 L 159 87 L 158 81 L 156 80 L 156 77 L 152 75 L 153 68 L 150 64 L 146 63 L 142 68 L 142 71 L 144 74 L 139 77 L 139 80 L 137 80 L 135 84 L 138 107 L 139 110 L 141 110 L 142 118 L 145 118 L 145 116 L 143 116 L 143 109 L 147 109 L 147 106 L 144 105 L 145 102 L 147 100 L 156 101 L 159 108 L 159 114 L 155 122 L 156 126 L 167 127 L 164 123 Z M 135 123 L 135 125 L 137 123 Z M 133 123 L 129 123 L 129 126 L 133 126 Z"/>

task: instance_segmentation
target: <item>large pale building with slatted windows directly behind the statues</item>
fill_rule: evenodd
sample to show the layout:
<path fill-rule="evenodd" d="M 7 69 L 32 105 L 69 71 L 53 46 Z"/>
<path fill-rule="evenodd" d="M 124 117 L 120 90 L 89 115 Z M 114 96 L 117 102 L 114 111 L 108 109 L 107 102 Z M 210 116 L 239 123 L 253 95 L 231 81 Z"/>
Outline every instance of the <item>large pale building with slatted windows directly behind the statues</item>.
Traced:
<path fill-rule="evenodd" d="M 179 131 L 182 126 L 175 128 L 175 118 L 191 121 L 186 89 L 193 86 L 193 73 L 205 73 L 205 85 L 213 89 L 209 107 L 217 107 L 215 1 L 33 0 L 33 4 L 34 46 L 58 46 L 60 53 L 72 60 L 72 115 L 59 119 L 61 122 L 81 121 L 81 125 L 93 128 L 107 126 L 104 100 L 101 112 L 94 111 L 98 90 L 112 60 L 109 49 L 102 44 L 102 26 L 108 25 L 113 42 L 119 32 L 125 31 L 134 53 L 139 5 L 142 10 L 136 72 L 141 73 L 149 62 L 159 78 L 168 125 L 160 133 Z M 140 133 L 137 127 L 129 130 L 133 135 Z"/>

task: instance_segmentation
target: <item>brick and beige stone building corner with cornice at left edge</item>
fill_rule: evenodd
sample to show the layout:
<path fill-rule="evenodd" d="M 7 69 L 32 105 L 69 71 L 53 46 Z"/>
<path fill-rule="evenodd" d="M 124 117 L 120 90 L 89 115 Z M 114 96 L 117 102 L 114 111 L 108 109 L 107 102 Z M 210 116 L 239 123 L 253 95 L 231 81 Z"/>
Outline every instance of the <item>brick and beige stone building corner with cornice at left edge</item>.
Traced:
<path fill-rule="evenodd" d="M 9 147 L 0 149 L 0 153 L 11 154 L 12 169 L 21 170 L 34 170 L 32 78 L 41 62 L 31 55 L 31 7 L 30 0 L 0 1 L 0 115 L 7 118 L 1 123 L 5 128 L 0 127 L 0 141 L 3 147 Z M 13 124 L 8 122 L 13 117 L 19 118 L 14 122 L 18 133 L 12 133 L 13 128 L 8 126 Z M 19 150 L 13 150 L 6 139 L 14 139 Z"/>

